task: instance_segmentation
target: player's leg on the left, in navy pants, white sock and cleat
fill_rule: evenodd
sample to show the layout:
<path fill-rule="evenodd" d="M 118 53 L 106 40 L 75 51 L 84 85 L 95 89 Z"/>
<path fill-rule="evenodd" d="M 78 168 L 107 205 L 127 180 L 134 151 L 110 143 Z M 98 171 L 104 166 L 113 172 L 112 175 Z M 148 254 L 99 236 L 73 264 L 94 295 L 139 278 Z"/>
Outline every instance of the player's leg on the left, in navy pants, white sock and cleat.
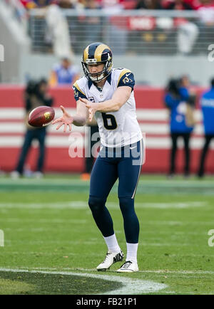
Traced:
<path fill-rule="evenodd" d="M 111 214 L 106 208 L 106 199 L 117 178 L 118 172 L 115 159 L 102 158 L 99 155 L 91 172 L 88 199 L 93 219 L 108 247 L 106 258 L 96 268 L 98 271 L 106 271 L 113 263 L 123 260 L 123 252 L 116 239 Z"/>

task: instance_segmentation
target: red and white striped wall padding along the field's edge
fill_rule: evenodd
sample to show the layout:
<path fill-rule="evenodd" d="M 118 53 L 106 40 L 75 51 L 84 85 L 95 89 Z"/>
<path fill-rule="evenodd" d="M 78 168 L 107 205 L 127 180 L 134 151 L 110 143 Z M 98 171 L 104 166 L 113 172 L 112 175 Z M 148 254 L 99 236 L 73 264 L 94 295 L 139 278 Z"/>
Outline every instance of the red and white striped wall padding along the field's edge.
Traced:
<path fill-rule="evenodd" d="M 200 98 L 203 88 L 193 88 Z M 69 112 L 74 112 L 76 101 L 71 87 L 61 86 L 50 89 L 54 97 L 56 117 L 61 115 L 60 105 Z M 164 90 L 136 86 L 135 98 L 138 122 L 142 132 L 146 134 L 146 162 L 143 164 L 144 173 L 167 173 L 170 156 L 169 113 L 163 104 Z M 190 170 L 195 173 L 198 169 L 200 150 L 203 147 L 203 124 L 198 100 L 195 110 L 197 124 L 190 140 Z M 57 132 L 56 125 L 49 125 L 46 137 L 46 172 L 83 172 L 83 157 L 71 158 L 68 150 L 72 147 L 71 136 Z M 24 126 L 24 87 L 19 85 L 0 86 L 0 170 L 10 172 L 16 167 L 25 132 Z M 87 135 L 85 127 L 73 126 L 73 132 L 82 138 Z M 80 138 L 80 139 L 81 139 Z M 84 140 L 84 138 L 83 138 Z M 80 143 L 81 145 L 81 143 Z M 84 142 L 83 142 L 84 145 Z M 178 143 L 176 157 L 177 172 L 183 172 L 183 141 Z M 84 150 L 83 150 L 84 152 Z M 26 167 L 32 170 L 36 167 L 37 145 L 33 143 L 26 160 Z M 206 160 L 206 172 L 214 172 L 214 145 Z"/>

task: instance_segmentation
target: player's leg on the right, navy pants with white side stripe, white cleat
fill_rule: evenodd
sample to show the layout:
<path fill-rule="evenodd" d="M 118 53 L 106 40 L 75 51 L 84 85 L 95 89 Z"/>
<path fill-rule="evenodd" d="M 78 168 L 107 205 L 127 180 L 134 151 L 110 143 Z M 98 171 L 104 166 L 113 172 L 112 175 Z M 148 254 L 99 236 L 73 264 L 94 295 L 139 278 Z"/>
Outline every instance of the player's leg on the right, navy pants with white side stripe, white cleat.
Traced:
<path fill-rule="evenodd" d="M 139 221 L 134 209 L 134 197 L 143 164 L 143 140 L 132 146 L 130 157 L 122 157 L 118 163 L 118 198 L 123 214 L 123 226 L 126 235 L 126 262 L 118 272 L 138 271 L 137 251 Z"/>

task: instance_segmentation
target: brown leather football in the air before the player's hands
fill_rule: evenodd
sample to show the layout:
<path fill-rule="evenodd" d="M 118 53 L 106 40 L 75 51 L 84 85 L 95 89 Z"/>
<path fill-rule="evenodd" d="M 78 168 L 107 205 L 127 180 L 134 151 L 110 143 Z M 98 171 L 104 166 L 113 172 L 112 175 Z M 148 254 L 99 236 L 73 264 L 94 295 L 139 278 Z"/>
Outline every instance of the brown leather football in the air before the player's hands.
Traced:
<path fill-rule="evenodd" d="M 29 114 L 29 125 L 32 127 L 45 127 L 46 125 L 50 125 L 52 120 L 54 120 L 54 116 L 54 108 L 39 106 L 31 110 Z"/>

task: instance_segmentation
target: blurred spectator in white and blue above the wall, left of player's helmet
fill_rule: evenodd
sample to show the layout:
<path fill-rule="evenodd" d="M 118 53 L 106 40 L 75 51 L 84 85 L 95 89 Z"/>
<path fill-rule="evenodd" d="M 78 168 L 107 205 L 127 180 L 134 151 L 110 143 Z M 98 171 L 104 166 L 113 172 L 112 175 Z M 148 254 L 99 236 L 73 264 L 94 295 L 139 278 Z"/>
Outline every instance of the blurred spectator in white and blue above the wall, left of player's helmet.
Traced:
<path fill-rule="evenodd" d="M 72 85 L 79 77 L 78 66 L 74 66 L 70 58 L 63 57 L 61 63 L 57 63 L 51 71 L 49 85 Z"/>

